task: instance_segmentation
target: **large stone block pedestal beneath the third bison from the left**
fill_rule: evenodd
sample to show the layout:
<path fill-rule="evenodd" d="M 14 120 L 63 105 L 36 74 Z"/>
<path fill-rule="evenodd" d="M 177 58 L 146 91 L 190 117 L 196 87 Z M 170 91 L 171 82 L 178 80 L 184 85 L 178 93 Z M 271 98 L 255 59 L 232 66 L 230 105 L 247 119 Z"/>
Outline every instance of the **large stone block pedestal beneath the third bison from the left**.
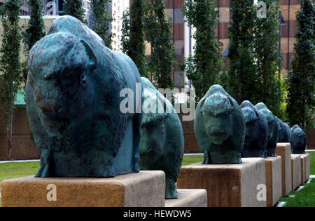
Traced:
<path fill-rule="evenodd" d="M 266 184 L 265 161 L 242 158 L 240 164 L 202 164 L 183 166 L 178 189 L 207 189 L 208 206 L 267 206 L 260 199 Z"/>

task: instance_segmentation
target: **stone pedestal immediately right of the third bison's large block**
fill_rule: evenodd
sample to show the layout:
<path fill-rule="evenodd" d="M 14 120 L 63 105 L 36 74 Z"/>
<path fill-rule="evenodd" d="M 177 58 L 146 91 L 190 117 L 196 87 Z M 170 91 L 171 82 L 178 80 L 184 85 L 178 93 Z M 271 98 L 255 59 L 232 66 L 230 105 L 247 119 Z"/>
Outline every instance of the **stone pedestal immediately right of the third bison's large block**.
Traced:
<path fill-rule="evenodd" d="M 267 206 L 274 206 L 282 195 L 281 156 L 265 159 Z"/>

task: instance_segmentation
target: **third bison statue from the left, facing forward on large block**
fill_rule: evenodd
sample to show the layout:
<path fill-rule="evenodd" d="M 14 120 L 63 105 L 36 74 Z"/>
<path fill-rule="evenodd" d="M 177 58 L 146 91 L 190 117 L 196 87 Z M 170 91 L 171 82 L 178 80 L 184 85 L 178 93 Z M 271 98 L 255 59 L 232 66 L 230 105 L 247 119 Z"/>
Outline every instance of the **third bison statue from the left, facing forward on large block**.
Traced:
<path fill-rule="evenodd" d="M 241 163 L 245 130 L 237 102 L 221 86 L 211 86 L 195 114 L 195 134 L 204 153 L 202 163 Z"/>

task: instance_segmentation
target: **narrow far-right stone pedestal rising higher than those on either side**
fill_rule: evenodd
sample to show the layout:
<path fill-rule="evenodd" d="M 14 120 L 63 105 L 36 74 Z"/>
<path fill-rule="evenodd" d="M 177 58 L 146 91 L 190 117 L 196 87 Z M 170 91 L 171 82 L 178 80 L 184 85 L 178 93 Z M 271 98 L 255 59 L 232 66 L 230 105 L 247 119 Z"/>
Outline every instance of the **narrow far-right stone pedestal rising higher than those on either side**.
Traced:
<path fill-rule="evenodd" d="M 281 156 L 282 168 L 282 196 L 288 196 L 292 191 L 291 173 L 291 145 L 289 142 L 279 142 L 276 144 L 276 155 Z"/>

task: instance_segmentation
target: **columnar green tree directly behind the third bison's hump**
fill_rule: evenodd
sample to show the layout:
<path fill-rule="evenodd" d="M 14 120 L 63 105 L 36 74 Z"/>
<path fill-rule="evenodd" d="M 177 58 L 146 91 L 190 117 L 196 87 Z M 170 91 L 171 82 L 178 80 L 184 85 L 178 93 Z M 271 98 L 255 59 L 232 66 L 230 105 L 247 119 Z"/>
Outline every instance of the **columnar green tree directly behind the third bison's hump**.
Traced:
<path fill-rule="evenodd" d="M 193 83 L 196 100 L 200 100 L 209 88 L 219 82 L 223 59 L 221 45 L 214 34 L 218 25 L 214 0 L 186 0 L 183 15 L 189 25 L 195 27 L 194 55 L 186 60 L 186 75 Z"/>

